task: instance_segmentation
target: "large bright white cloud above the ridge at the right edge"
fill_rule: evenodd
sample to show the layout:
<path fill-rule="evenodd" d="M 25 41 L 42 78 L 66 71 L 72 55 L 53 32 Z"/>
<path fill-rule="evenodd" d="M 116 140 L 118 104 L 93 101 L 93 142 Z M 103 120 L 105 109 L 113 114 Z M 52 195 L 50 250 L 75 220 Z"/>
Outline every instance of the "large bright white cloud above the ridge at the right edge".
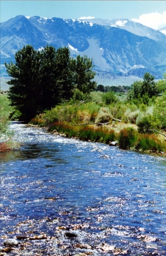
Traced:
<path fill-rule="evenodd" d="M 161 29 L 166 26 L 166 11 L 163 13 L 152 12 L 148 14 L 142 14 L 138 19 L 132 18 L 133 21 L 141 23 L 152 29 Z"/>

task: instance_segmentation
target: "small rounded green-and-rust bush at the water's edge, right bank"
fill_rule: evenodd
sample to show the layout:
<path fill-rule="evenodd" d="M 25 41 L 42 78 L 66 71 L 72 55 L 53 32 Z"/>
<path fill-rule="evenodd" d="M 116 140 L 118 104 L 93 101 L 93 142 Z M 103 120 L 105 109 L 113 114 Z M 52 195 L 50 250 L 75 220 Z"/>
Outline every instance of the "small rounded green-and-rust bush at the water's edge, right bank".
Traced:
<path fill-rule="evenodd" d="M 128 127 L 124 128 L 119 132 L 119 148 L 130 149 L 130 147 L 135 146 L 138 140 L 138 133 L 135 129 Z"/>

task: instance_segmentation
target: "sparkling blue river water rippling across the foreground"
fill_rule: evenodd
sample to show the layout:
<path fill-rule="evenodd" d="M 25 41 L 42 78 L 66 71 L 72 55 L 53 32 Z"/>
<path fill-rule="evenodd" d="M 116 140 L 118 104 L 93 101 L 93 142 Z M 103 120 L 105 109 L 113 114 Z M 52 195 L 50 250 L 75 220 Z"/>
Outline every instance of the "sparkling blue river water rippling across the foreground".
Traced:
<path fill-rule="evenodd" d="M 0 246 L 26 238 L 8 255 L 166 255 L 164 157 L 11 129 L 23 145 L 0 153 Z"/>

